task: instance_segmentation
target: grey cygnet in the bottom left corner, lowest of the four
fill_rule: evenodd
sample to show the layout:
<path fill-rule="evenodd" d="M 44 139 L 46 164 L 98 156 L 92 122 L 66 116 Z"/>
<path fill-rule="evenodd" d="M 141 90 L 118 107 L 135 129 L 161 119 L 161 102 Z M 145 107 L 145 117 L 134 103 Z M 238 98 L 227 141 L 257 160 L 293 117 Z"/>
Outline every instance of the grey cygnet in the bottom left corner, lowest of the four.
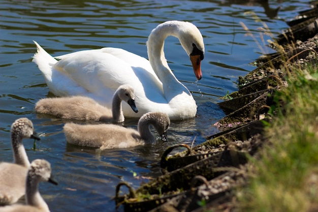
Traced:
<path fill-rule="evenodd" d="M 24 179 L 26 204 L 0 207 L 0 212 L 49 212 L 50 209 L 38 189 L 41 181 L 57 185 L 56 181 L 51 178 L 50 163 L 43 159 L 36 159 L 30 164 L 27 170 L 27 177 Z"/>

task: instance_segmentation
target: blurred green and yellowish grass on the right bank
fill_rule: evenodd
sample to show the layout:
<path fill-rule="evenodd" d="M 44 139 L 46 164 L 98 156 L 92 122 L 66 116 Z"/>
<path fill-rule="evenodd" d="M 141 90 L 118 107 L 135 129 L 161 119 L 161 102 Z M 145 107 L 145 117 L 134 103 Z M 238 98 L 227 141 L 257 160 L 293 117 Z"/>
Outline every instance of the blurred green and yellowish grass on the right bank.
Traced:
<path fill-rule="evenodd" d="M 318 210 L 317 65 L 285 70 L 289 86 L 274 94 L 268 143 L 251 159 L 249 184 L 237 191 L 241 211 Z"/>

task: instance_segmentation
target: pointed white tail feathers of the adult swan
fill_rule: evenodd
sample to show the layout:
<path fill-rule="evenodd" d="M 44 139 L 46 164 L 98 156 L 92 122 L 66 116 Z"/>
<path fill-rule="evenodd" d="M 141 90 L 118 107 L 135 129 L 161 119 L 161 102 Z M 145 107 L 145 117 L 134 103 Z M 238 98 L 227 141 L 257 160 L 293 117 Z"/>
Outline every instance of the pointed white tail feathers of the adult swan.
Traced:
<path fill-rule="evenodd" d="M 54 57 L 47 53 L 36 41 L 37 52 L 33 56 L 33 62 L 36 63 L 44 75 L 46 83 L 52 81 L 52 66 L 57 62 Z"/>

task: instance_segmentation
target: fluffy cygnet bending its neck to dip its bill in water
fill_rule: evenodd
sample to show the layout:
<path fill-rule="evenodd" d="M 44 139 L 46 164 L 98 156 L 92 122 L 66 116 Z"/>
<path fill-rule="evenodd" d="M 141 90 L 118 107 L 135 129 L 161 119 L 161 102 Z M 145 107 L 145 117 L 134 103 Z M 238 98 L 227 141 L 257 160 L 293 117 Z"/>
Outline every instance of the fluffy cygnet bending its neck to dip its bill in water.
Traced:
<path fill-rule="evenodd" d="M 150 125 L 154 127 L 162 140 L 167 141 L 166 132 L 170 125 L 170 119 L 161 112 L 148 112 L 141 116 L 138 122 L 138 131 L 112 124 L 79 125 L 66 123 L 63 129 L 69 143 L 111 149 L 155 143 L 156 138 L 150 132 Z"/>

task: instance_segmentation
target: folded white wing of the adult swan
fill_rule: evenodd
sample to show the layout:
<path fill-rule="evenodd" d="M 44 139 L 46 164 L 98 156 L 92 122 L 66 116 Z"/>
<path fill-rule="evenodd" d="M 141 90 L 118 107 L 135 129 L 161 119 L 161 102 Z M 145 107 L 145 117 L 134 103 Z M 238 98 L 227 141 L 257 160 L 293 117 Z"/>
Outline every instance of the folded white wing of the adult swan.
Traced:
<path fill-rule="evenodd" d="M 53 66 L 59 72 L 58 75 L 64 74 L 70 83 L 76 82 L 77 86 L 85 89 L 87 93 L 98 95 L 99 98 L 92 98 L 99 102 L 102 97 L 112 97 L 122 84 L 133 86 L 135 94 L 140 97 L 146 96 L 146 89 L 156 98 L 164 97 L 162 83 L 154 74 L 148 60 L 131 52 L 103 48 L 78 51 L 58 58 L 60 60 Z"/>

